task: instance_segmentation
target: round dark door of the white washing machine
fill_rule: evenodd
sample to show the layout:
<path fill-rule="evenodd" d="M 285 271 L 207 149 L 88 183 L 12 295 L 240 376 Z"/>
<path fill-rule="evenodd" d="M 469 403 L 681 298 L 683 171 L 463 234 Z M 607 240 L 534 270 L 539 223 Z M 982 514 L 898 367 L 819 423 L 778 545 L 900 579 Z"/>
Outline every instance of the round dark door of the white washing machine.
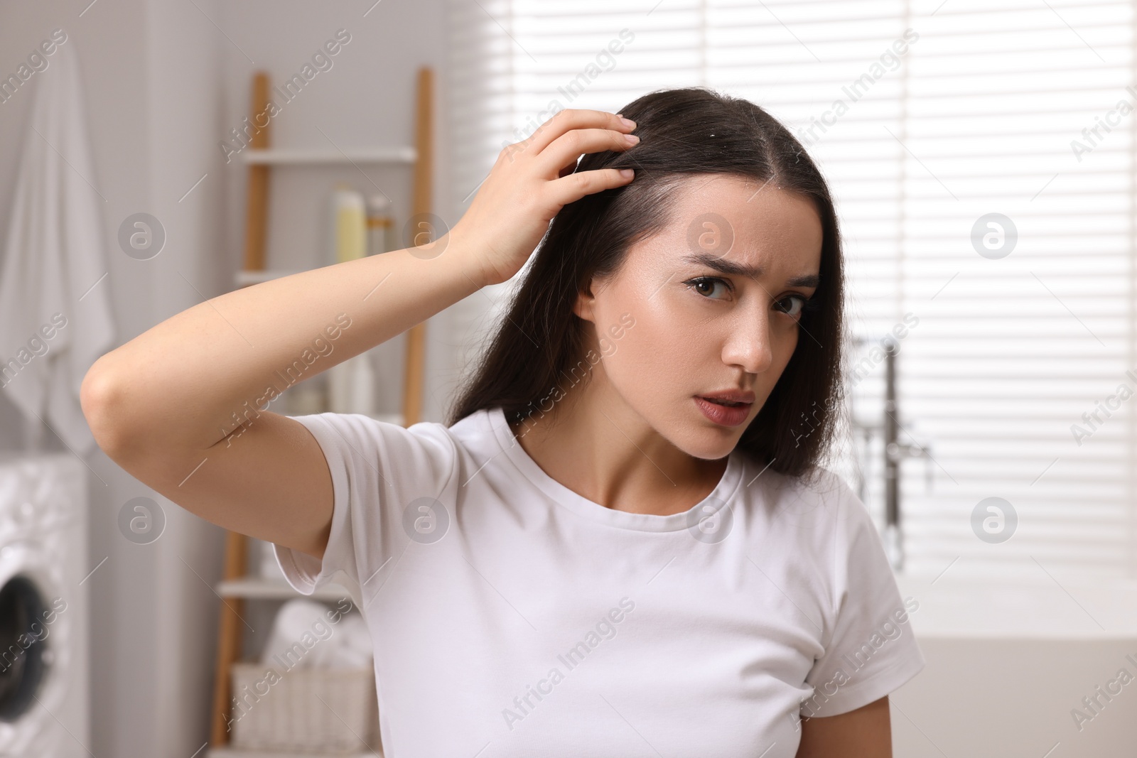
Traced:
<path fill-rule="evenodd" d="M 50 660 L 43 624 L 47 599 L 26 574 L 0 586 L 0 722 L 15 722 L 35 702 Z"/>

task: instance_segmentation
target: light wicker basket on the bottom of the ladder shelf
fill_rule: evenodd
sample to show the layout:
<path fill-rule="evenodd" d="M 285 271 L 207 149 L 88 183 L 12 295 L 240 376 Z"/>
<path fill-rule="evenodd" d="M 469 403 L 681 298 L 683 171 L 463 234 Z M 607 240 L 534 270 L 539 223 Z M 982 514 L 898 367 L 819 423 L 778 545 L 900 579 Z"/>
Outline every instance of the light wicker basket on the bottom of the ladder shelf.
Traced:
<path fill-rule="evenodd" d="M 233 664 L 232 744 L 248 750 L 354 753 L 379 749 L 373 668 Z"/>

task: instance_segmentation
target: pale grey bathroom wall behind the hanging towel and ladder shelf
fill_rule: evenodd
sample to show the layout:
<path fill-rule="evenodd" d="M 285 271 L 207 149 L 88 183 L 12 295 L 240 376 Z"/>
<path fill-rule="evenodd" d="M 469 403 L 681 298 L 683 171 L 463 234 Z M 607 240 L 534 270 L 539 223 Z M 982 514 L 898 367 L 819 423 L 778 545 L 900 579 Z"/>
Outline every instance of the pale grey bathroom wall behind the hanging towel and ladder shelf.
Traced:
<path fill-rule="evenodd" d="M 410 143 L 414 72 L 420 64 L 431 65 L 438 75 L 437 213 L 455 220 L 445 181 L 442 0 L 89 3 L 0 5 L 0 72 L 15 70 L 57 27 L 67 30 L 67 43 L 78 51 L 97 173 L 92 182 L 107 200 L 102 239 L 110 275 L 105 284 L 119 343 L 232 288 L 241 258 L 244 169 L 236 160 L 226 165 L 218 142 L 247 114 L 255 69 L 267 69 L 279 82 L 338 28 L 348 30 L 351 42 L 332 69 L 273 119 L 274 144 L 323 147 L 319 141 L 329 138 L 350 147 Z M 0 181 L 0 240 L 9 225 L 34 84 L 33 78 L 0 103 L 0 177 L 6 178 Z M 360 189 L 377 185 L 393 198 L 409 189 L 407 169 L 401 175 L 364 170 L 366 177 L 357 173 L 348 181 Z M 318 219 L 312 186 L 339 177 L 279 178 L 273 210 L 292 213 L 271 232 L 271 247 L 292 232 L 315 234 L 300 217 Z M 147 261 L 127 257 L 116 242 L 118 225 L 138 211 L 155 215 L 167 234 L 166 248 Z M 281 255 L 300 260 L 302 253 L 292 248 Z M 450 311 L 445 311 L 428 326 L 424 415 L 431 420 L 441 418 L 457 373 L 458 340 L 449 324 Z M 401 377 L 401 340 L 384 349 L 376 360 L 393 393 L 400 386 L 395 381 Z M 384 405 L 397 409 L 397 397 L 389 394 Z M 22 430 L 20 416 L 0 397 L 0 448 L 18 449 Z M 63 449 L 50 433 L 45 447 Z M 117 531 L 118 509 L 131 498 L 155 494 L 101 451 L 86 463 L 92 469 L 91 568 L 99 567 L 84 583 L 92 608 L 92 733 L 76 736 L 92 755 L 185 758 L 208 738 L 218 608 L 210 586 L 219 578 L 224 533 L 155 498 L 167 518 L 165 532 L 148 545 L 128 542 Z"/>

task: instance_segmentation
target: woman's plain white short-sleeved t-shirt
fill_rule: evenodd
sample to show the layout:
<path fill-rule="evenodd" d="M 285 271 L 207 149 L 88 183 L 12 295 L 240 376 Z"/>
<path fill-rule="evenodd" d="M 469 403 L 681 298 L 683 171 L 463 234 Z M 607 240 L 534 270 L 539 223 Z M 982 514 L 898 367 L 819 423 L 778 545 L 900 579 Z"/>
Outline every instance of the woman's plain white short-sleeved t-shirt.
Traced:
<path fill-rule="evenodd" d="M 304 594 L 358 584 L 387 758 L 792 758 L 802 717 L 923 668 L 919 605 L 829 472 L 806 486 L 735 450 L 689 511 L 633 514 L 547 475 L 500 408 L 296 418 L 331 469 L 331 536 L 323 561 L 276 559 Z"/>

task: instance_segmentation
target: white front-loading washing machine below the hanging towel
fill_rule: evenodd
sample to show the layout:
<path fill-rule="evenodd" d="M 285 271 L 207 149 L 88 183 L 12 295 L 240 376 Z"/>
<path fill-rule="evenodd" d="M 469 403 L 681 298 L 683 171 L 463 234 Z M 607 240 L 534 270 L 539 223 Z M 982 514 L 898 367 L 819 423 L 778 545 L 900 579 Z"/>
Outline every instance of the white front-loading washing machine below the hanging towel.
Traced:
<path fill-rule="evenodd" d="M 86 466 L 0 453 L 0 756 L 89 756 Z"/>

